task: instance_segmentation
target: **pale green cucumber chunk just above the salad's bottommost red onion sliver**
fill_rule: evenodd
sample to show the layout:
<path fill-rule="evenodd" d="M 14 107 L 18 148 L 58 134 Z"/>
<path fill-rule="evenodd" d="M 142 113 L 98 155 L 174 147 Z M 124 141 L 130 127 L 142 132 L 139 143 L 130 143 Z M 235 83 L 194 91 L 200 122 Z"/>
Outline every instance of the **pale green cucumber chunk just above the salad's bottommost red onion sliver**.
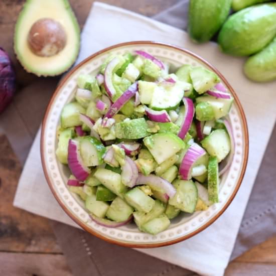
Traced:
<path fill-rule="evenodd" d="M 133 208 L 131 206 L 120 197 L 116 197 L 109 206 L 106 216 L 109 219 L 120 222 L 127 220 L 132 212 Z"/>

